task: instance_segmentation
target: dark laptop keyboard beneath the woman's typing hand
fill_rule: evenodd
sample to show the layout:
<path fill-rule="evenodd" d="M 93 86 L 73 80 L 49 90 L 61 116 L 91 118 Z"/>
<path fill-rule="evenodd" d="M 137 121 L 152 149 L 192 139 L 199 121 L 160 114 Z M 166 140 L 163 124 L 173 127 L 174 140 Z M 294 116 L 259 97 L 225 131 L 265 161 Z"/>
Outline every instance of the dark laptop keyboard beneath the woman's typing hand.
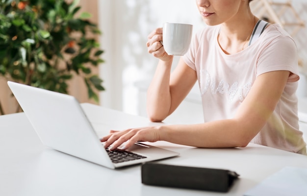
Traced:
<path fill-rule="evenodd" d="M 146 158 L 146 156 L 135 154 L 133 152 L 129 152 L 129 151 L 126 151 L 126 150 L 120 150 L 120 149 L 109 150 L 109 149 L 106 149 L 106 151 L 107 151 L 107 153 L 108 153 L 108 155 L 111 158 L 113 163 L 122 163 L 122 162 L 126 162 L 126 161 Z"/>

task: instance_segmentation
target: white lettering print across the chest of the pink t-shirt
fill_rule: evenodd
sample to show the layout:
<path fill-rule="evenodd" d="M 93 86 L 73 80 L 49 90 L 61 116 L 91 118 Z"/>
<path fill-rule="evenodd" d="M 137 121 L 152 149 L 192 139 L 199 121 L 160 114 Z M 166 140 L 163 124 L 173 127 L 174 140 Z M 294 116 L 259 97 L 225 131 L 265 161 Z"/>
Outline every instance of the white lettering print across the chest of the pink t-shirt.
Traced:
<path fill-rule="evenodd" d="M 243 101 L 252 88 L 252 82 L 247 82 L 239 86 L 236 81 L 230 85 L 229 82 L 223 79 L 220 80 L 217 85 L 216 78 L 212 77 L 206 70 L 201 70 L 200 73 L 200 91 L 202 95 L 210 89 L 212 94 L 220 93 L 228 95 L 230 100 L 237 95 L 239 100 Z"/>

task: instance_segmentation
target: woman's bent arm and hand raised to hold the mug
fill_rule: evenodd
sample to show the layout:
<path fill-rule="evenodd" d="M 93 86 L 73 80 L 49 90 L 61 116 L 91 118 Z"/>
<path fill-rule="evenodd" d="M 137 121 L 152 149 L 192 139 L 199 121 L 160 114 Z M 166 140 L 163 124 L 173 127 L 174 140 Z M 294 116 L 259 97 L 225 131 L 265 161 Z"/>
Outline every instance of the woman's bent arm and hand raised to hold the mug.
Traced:
<path fill-rule="evenodd" d="M 147 92 L 147 113 L 153 122 L 161 122 L 172 114 L 197 80 L 196 72 L 182 58 L 171 73 L 173 56 L 165 52 L 160 41 L 162 28 L 157 28 L 147 42 L 148 52 L 160 59 Z"/>

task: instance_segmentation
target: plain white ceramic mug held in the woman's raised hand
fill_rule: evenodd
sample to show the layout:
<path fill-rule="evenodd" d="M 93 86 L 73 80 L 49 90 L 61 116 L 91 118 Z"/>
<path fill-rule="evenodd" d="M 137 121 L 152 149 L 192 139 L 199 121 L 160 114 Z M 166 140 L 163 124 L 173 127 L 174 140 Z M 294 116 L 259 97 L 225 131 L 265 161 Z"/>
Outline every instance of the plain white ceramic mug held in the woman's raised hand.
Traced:
<path fill-rule="evenodd" d="M 179 23 L 163 24 L 163 46 L 169 55 L 184 55 L 191 43 L 193 25 Z"/>

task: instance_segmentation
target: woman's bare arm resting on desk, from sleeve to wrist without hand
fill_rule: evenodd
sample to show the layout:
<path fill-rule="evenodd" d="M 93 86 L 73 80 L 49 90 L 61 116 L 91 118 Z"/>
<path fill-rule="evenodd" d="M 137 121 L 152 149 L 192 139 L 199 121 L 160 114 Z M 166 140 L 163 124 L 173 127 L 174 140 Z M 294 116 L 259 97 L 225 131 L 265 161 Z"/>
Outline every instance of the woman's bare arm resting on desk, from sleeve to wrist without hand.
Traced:
<path fill-rule="evenodd" d="M 165 131 L 160 131 L 160 140 L 195 147 L 247 146 L 272 115 L 289 74 L 289 71 L 273 71 L 257 76 L 234 118 L 194 125 L 169 125 Z"/>

